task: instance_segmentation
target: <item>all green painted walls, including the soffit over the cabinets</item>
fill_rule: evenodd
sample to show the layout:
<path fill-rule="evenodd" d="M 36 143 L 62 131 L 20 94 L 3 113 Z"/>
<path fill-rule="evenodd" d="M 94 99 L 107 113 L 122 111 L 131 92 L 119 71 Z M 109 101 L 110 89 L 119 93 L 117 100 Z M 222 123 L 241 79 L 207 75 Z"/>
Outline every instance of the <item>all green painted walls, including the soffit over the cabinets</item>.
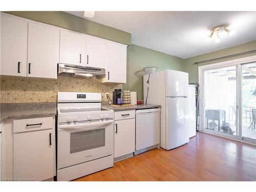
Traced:
<path fill-rule="evenodd" d="M 7 11 L 6 13 L 35 20 L 37 22 L 69 29 L 72 31 L 109 39 L 125 45 L 131 45 L 130 33 L 102 24 L 98 24 L 96 22 L 92 22 L 90 20 L 71 15 L 66 12 Z M 173 69 L 178 71 L 185 71 L 189 74 L 189 82 L 198 82 L 198 66 L 193 66 L 194 62 L 251 51 L 255 49 L 256 41 L 251 41 L 235 47 L 222 49 L 219 51 L 190 57 L 187 59 L 182 59 L 132 44 L 131 46 L 127 47 L 127 83 L 124 84 L 123 89 L 137 91 L 138 99 L 143 99 L 143 67 L 157 66 L 159 67 L 158 70 Z M 202 63 L 201 65 L 208 65 L 214 62 L 221 62 L 224 60 L 236 59 L 250 55 L 253 54 Z"/>

